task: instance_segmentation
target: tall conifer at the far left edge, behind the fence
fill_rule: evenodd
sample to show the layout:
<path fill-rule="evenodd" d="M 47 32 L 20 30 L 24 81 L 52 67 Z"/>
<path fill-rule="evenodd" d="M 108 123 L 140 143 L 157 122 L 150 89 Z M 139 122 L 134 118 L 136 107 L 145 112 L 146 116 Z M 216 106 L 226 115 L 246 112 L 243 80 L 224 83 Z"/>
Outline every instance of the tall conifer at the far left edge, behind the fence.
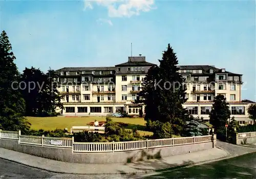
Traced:
<path fill-rule="evenodd" d="M 29 130 L 30 124 L 23 117 L 25 100 L 18 90 L 15 56 L 5 31 L 0 36 L 0 129 Z"/>

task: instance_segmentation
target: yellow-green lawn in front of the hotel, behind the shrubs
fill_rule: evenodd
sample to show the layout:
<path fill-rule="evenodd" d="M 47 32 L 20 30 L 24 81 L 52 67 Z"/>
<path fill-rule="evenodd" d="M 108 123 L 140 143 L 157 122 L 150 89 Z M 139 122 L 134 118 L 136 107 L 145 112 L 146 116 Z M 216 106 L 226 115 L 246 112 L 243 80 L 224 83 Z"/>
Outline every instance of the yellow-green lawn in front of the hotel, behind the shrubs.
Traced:
<path fill-rule="evenodd" d="M 55 130 L 55 129 L 65 129 L 70 128 L 72 126 L 84 126 L 88 125 L 90 122 L 94 122 L 94 120 L 98 121 L 106 121 L 106 117 L 98 117 L 98 116 L 90 116 L 90 117 L 26 117 L 28 121 L 31 123 L 32 130 Z M 132 130 L 134 127 L 137 128 L 138 132 L 141 135 L 153 135 L 152 132 L 144 131 L 145 128 L 145 120 L 144 118 L 119 118 L 119 117 L 111 117 L 115 122 L 123 122 L 128 124 L 125 126 L 127 130 Z"/>

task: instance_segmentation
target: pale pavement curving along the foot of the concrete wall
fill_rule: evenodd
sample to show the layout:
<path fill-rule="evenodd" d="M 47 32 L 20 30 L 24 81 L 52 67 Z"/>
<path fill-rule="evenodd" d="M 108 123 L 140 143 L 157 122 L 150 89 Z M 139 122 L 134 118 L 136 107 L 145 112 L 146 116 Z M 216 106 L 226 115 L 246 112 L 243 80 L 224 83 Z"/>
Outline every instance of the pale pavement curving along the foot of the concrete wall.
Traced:
<path fill-rule="evenodd" d="M 199 165 L 256 152 L 256 147 L 217 141 L 218 148 L 184 155 L 127 164 L 79 164 L 55 161 L 0 148 L 0 158 L 55 173 L 66 174 L 143 174 L 162 169 Z"/>

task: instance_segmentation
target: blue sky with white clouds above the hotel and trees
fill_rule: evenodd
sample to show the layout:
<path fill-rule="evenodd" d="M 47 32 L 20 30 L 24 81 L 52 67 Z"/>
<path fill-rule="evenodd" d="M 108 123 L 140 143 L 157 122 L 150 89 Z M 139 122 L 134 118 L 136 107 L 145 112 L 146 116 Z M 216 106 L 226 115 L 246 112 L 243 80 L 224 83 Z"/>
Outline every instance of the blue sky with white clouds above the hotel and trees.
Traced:
<path fill-rule="evenodd" d="M 19 70 L 114 66 L 142 54 L 158 63 L 170 43 L 180 65 L 243 74 L 256 100 L 254 1 L 1 1 L 0 30 Z"/>

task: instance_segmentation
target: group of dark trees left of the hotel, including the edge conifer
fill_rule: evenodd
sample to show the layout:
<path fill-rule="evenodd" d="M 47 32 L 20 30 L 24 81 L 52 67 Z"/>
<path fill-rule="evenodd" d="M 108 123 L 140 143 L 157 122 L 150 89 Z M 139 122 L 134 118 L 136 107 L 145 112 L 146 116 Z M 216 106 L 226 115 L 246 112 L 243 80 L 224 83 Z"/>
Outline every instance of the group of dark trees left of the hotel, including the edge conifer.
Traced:
<path fill-rule="evenodd" d="M 16 57 L 5 31 L 0 36 L 0 129 L 28 131 L 30 123 L 24 116 L 55 116 L 62 109 L 57 74 L 34 67 L 22 73 L 14 63 Z M 35 84 L 31 88 L 31 85 Z"/>

